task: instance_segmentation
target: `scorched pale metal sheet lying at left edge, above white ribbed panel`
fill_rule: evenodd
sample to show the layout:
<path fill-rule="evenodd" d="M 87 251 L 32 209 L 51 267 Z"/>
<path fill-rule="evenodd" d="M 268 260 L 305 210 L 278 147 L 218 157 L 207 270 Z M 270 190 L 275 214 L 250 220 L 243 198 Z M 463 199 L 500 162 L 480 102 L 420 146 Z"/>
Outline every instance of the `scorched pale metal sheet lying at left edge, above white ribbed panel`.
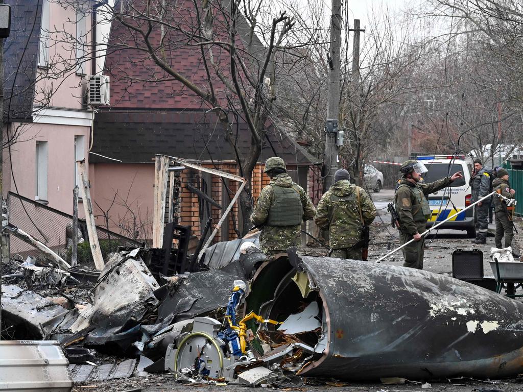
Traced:
<path fill-rule="evenodd" d="M 21 338 L 41 339 L 57 328 L 67 329 L 77 316 L 76 309 L 67 310 L 32 291 L 2 286 L 2 321 L 16 326 Z"/>

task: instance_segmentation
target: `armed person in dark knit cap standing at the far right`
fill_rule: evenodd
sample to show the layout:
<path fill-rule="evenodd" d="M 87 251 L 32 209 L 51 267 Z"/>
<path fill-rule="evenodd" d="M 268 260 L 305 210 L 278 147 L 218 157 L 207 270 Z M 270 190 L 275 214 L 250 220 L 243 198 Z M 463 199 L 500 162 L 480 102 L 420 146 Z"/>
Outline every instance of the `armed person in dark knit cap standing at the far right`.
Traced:
<path fill-rule="evenodd" d="M 508 171 L 504 168 L 497 170 L 497 178 L 492 182 L 493 190 L 500 193 L 508 199 L 514 199 L 516 191 L 510 188 L 508 182 Z M 496 248 L 506 248 L 512 246 L 512 238 L 514 237 L 514 226 L 512 223 L 512 216 L 507 210 L 505 201 L 494 195 L 494 212 L 496 214 Z M 505 246 L 502 246 L 502 238 L 505 236 Z M 519 257 L 518 251 L 513 250 L 514 256 Z"/>

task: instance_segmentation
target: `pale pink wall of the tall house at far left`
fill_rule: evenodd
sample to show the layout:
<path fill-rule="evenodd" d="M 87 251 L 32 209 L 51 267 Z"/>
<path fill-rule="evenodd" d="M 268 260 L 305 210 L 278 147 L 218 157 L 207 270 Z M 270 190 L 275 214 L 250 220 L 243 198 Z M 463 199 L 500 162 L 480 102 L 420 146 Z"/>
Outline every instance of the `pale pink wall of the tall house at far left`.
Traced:
<path fill-rule="evenodd" d="M 86 17 L 86 30 L 90 29 L 90 17 Z M 60 32 L 53 32 L 54 30 Z M 61 31 L 63 30 L 63 31 Z M 16 192 L 35 200 L 37 195 L 36 145 L 47 142 L 47 204 L 65 213 L 73 212 L 73 188 L 75 186 L 75 136 L 84 136 L 84 154 L 88 163 L 88 144 L 92 113 L 83 109 L 86 94 L 86 76 L 76 74 L 74 40 L 66 42 L 67 36 L 76 37 L 76 10 L 49 2 L 48 39 L 49 65 L 37 68 L 35 100 L 32 123 L 9 124 L 9 135 L 19 132 L 13 144 L 13 175 L 9 166 L 9 151 L 4 149 L 4 196 Z M 90 40 L 87 40 L 89 44 Z M 84 70 L 90 72 L 90 62 Z M 50 96 L 47 102 L 44 96 Z M 5 136 L 4 136 L 5 137 Z M 4 139 L 5 140 L 5 139 Z M 13 178 L 14 177 L 14 178 Z M 83 207 L 79 207 L 83 217 Z"/>

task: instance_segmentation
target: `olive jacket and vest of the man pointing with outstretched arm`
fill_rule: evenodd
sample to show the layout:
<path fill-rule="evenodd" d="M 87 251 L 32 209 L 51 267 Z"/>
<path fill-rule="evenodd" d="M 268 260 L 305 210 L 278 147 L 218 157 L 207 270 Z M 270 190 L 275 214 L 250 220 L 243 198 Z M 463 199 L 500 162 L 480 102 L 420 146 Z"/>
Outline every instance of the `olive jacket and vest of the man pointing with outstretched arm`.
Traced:
<path fill-rule="evenodd" d="M 418 233 L 418 226 L 425 225 L 428 219 L 427 214 L 430 216 L 426 196 L 448 187 L 451 182 L 450 177 L 416 184 L 405 178 L 400 180 L 400 187 L 394 194 L 394 205 L 397 215 L 400 217 L 400 227 L 403 233 L 410 235 Z M 423 211 L 423 207 L 425 207 L 425 211 Z"/>

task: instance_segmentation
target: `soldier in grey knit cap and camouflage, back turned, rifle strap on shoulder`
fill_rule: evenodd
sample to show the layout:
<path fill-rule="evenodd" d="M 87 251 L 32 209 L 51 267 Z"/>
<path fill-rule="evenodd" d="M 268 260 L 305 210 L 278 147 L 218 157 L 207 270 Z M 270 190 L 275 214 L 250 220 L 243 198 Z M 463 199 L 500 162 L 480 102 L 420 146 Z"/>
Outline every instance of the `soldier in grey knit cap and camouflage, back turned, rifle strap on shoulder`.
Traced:
<path fill-rule="evenodd" d="M 363 226 L 376 218 L 376 207 L 363 188 L 349 182 L 349 173 L 339 169 L 334 184 L 322 196 L 314 222 L 329 230 L 329 256 L 363 260 L 361 236 Z"/>

